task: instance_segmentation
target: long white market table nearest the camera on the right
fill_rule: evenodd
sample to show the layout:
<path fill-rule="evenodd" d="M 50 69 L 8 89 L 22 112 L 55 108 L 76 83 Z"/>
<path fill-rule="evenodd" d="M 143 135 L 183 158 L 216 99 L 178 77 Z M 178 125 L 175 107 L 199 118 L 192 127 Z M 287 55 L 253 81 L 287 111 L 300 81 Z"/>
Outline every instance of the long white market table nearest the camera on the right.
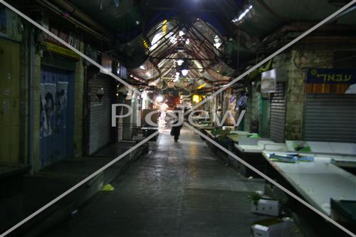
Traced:
<path fill-rule="evenodd" d="M 356 200 L 356 176 L 330 163 L 330 156 L 312 154 L 315 157 L 314 162 L 293 164 L 273 162 L 268 158 L 270 153 L 263 152 L 263 157 L 305 200 L 325 214 L 330 216 L 331 198 Z"/>

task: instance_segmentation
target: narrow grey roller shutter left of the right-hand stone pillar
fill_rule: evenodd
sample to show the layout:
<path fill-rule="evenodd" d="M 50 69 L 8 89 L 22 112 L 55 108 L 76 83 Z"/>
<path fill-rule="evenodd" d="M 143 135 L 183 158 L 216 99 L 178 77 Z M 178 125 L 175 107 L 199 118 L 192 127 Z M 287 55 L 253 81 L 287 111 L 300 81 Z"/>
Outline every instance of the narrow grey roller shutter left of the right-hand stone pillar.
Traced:
<path fill-rule="evenodd" d="M 274 142 L 284 142 L 286 124 L 286 83 L 277 83 L 276 93 L 271 100 L 270 138 Z"/>

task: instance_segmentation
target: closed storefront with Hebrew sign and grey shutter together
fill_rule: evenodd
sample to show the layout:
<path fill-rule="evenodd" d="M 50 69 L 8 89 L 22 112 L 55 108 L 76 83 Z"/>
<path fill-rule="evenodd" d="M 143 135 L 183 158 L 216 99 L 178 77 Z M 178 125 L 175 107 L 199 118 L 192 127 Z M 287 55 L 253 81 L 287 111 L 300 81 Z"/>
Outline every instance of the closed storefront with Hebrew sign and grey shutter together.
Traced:
<path fill-rule="evenodd" d="M 304 139 L 356 141 L 356 70 L 308 70 Z"/>

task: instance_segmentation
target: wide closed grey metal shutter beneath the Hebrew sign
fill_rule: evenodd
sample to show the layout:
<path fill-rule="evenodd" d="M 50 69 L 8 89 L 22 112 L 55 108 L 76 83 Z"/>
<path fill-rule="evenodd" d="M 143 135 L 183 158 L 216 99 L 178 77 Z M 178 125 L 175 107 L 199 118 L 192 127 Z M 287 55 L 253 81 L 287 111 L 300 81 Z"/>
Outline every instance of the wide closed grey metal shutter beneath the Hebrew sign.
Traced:
<path fill-rule="evenodd" d="M 356 141 L 356 95 L 308 94 L 304 139 L 325 142 Z"/>

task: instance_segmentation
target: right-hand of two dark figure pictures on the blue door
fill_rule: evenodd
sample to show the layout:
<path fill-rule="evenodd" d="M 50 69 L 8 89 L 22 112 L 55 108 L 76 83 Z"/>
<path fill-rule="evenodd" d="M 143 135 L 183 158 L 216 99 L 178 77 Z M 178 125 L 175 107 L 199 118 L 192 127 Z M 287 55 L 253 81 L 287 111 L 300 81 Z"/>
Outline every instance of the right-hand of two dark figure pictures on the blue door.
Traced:
<path fill-rule="evenodd" d="M 66 129 L 68 82 L 56 85 L 56 130 Z M 59 132 L 59 131 L 58 131 Z"/>

